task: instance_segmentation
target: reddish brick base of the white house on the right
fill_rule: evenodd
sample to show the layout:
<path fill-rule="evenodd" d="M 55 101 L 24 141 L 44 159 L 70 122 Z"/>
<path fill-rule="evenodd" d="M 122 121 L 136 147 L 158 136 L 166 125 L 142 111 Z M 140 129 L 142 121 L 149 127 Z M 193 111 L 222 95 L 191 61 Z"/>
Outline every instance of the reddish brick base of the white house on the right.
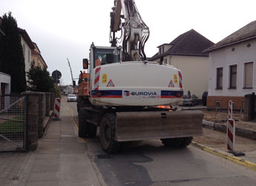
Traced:
<path fill-rule="evenodd" d="M 215 108 L 216 101 L 220 101 L 220 108 L 228 108 L 229 100 L 234 103 L 235 109 L 243 109 L 244 97 L 232 97 L 232 96 L 208 96 L 207 108 Z"/>

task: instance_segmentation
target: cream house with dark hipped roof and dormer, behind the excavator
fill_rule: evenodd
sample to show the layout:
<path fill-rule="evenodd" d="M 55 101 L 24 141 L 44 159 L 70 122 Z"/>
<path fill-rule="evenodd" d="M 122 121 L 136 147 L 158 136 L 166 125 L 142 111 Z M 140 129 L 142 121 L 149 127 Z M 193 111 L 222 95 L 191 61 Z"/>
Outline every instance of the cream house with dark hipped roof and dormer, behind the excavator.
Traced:
<path fill-rule="evenodd" d="M 208 89 L 209 54 L 203 50 L 213 45 L 195 30 L 189 30 L 169 44 L 161 44 L 158 52 L 149 61 L 160 62 L 180 69 L 183 74 L 184 94 L 191 92 L 197 97 L 202 97 Z"/>

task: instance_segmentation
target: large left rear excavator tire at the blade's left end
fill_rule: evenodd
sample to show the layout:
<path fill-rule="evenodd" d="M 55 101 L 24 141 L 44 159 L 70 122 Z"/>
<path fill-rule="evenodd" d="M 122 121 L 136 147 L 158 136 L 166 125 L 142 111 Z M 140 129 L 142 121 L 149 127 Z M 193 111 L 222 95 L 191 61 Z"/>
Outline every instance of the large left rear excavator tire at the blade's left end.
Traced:
<path fill-rule="evenodd" d="M 114 154 L 119 151 L 121 142 L 114 140 L 116 134 L 116 114 L 107 113 L 102 117 L 99 130 L 99 138 L 103 151 Z"/>

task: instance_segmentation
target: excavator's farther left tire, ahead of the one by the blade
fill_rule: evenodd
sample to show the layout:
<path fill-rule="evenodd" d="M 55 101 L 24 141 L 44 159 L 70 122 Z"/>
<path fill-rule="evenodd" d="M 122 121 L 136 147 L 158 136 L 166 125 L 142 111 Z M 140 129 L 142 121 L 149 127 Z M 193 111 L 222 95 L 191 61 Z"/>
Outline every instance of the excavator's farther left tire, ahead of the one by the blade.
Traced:
<path fill-rule="evenodd" d="M 85 108 L 81 108 L 78 113 L 78 136 L 87 137 L 89 133 L 89 123 L 86 122 L 88 118 L 88 111 Z"/>

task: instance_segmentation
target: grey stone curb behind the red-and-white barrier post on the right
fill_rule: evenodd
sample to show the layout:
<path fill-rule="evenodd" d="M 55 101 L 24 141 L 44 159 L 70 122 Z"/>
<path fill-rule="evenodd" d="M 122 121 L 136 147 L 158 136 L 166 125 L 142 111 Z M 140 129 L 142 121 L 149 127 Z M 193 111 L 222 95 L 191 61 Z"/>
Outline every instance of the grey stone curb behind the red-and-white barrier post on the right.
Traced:
<path fill-rule="evenodd" d="M 226 133 L 226 125 L 220 124 L 220 123 L 213 123 L 206 120 L 203 120 L 203 128 L 211 128 L 216 131 L 221 131 Z M 256 140 L 256 131 L 250 130 L 246 128 L 235 128 L 235 134 L 240 137 L 246 137 L 252 140 Z"/>

